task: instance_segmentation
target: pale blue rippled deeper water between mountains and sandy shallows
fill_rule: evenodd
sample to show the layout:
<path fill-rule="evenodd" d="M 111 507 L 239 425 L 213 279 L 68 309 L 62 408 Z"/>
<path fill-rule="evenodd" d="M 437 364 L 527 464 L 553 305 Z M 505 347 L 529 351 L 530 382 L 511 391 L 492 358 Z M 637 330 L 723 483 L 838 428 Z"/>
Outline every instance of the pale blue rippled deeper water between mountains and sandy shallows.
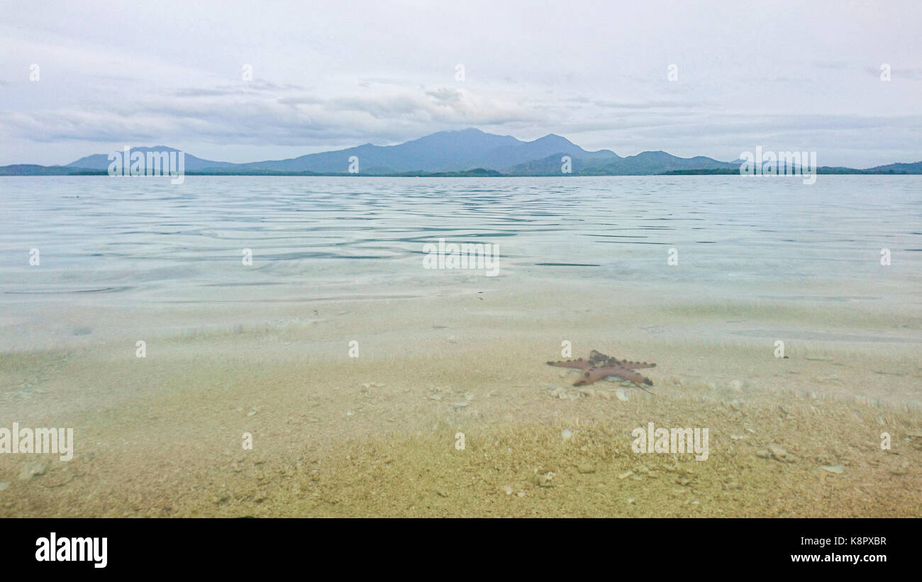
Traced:
<path fill-rule="evenodd" d="M 129 306 L 482 276 L 423 269 L 423 245 L 439 238 L 498 244 L 498 285 L 589 278 L 719 290 L 873 282 L 881 269 L 909 283 L 922 273 L 922 176 L 0 178 L 0 308 L 24 296 Z"/>

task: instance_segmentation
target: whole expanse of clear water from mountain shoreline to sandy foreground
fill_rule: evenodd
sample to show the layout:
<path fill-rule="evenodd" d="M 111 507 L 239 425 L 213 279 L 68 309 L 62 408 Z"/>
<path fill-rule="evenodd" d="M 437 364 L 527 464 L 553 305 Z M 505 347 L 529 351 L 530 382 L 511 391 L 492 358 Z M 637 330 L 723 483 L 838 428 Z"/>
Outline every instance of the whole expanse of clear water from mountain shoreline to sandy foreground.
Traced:
<path fill-rule="evenodd" d="M 481 435 L 478 449 L 562 424 L 582 448 L 511 445 L 510 466 L 537 468 L 553 450 L 555 465 L 575 467 L 592 445 L 580 422 L 606 426 L 589 431 L 599 443 L 613 422 L 617 436 L 652 419 L 712 427 L 714 472 L 701 483 L 711 497 L 686 505 L 665 487 L 645 508 L 621 507 L 604 483 L 573 496 L 592 478 L 561 469 L 569 515 L 775 515 L 784 504 L 769 492 L 785 483 L 790 495 L 838 492 L 795 504 L 796 515 L 920 515 L 920 237 L 920 177 L 0 179 L 0 426 L 74 426 L 79 443 L 75 460 L 22 483 L 24 461 L 0 456 L 0 482 L 14 483 L 0 508 L 417 515 L 344 484 L 354 469 L 337 465 L 344 447 L 370 439 L 368 471 L 403 451 L 400 471 L 431 477 L 447 462 L 432 443 L 454 450 L 457 430 Z M 424 245 L 440 238 L 499 245 L 497 276 L 424 268 Z M 361 357 L 349 357 L 352 340 Z M 774 356 L 778 340 L 789 357 Z M 544 364 L 561 358 L 561 341 L 573 357 L 655 361 L 653 393 L 604 381 L 598 397 L 577 394 Z M 565 400 L 550 397 L 555 387 Z M 615 390 L 628 400 L 600 398 Z M 901 455 L 875 448 L 881 426 Z M 241 453 L 242 431 L 254 451 Z M 421 441 L 400 440 L 413 435 Z M 613 442 L 593 478 L 618 481 L 637 464 L 612 458 Z M 757 455 L 779 444 L 799 462 Z M 265 464 L 242 471 L 253 455 Z M 304 467 L 315 463 L 333 483 L 323 495 L 355 490 L 351 509 L 314 503 Z M 826 483 L 818 467 L 836 463 L 845 476 Z M 482 470 L 492 487 L 482 495 L 507 486 Z M 508 479 L 536 504 L 529 512 L 558 515 L 563 497 Z M 870 482 L 890 489 L 861 493 Z M 231 483 L 231 502 L 215 483 Z M 439 515 L 495 509 L 440 491 L 450 501 L 431 506 Z"/>

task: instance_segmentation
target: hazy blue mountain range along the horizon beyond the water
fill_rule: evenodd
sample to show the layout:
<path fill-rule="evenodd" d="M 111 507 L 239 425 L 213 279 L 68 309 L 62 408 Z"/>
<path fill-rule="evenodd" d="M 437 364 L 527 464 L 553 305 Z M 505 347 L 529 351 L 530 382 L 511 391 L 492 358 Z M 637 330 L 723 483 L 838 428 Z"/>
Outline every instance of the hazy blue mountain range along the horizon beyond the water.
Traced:
<path fill-rule="evenodd" d="M 165 145 L 134 152 L 178 152 Z M 81 157 L 66 166 L 13 164 L 0 176 L 107 175 L 108 154 Z M 646 151 L 621 157 L 608 149 L 587 151 L 560 135 L 526 142 L 478 129 L 438 132 L 400 145 L 358 145 L 290 159 L 234 164 L 184 154 L 187 176 L 382 176 L 488 178 L 516 176 L 650 176 L 739 174 L 740 162 L 711 157 L 676 157 Z M 350 171 L 351 170 L 351 171 Z M 821 166 L 818 174 L 922 174 L 922 161 L 868 169 Z"/>

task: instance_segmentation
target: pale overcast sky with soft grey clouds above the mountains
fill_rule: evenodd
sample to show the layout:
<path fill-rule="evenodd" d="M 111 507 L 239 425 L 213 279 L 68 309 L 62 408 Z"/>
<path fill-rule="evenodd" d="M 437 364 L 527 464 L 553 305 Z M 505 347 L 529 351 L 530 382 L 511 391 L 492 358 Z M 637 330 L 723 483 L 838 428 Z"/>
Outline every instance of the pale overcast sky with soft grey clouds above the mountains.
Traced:
<path fill-rule="evenodd" d="M 124 145 L 245 162 L 468 127 L 621 156 L 922 160 L 919 0 L 0 7 L 0 165 Z"/>

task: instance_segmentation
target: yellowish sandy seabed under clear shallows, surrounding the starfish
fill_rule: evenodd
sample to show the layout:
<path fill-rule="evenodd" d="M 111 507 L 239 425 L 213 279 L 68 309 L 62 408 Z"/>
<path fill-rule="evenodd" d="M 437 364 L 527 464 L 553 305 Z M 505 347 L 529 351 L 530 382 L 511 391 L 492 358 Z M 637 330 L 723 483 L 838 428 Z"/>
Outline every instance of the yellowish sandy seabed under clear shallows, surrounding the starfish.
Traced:
<path fill-rule="evenodd" d="M 79 333 L 0 355 L 0 423 L 73 427 L 76 452 L 0 455 L 0 516 L 922 516 L 918 297 L 563 278 L 387 293 L 43 307 Z M 563 341 L 656 362 L 652 393 L 580 393 L 546 365 Z M 708 459 L 634 452 L 651 422 L 708 428 Z"/>

